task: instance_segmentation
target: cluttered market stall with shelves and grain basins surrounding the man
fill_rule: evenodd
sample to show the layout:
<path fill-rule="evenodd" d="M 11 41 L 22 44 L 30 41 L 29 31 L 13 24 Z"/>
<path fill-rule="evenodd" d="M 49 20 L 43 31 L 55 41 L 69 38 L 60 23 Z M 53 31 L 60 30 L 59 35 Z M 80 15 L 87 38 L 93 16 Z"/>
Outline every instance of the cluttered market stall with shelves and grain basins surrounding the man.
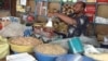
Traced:
<path fill-rule="evenodd" d="M 108 61 L 107 19 L 99 8 L 96 14 L 97 3 L 107 4 L 107 0 L 81 0 L 87 4 L 84 13 L 90 19 L 92 34 L 87 27 L 85 35 L 67 37 L 69 24 L 57 16 L 48 16 L 48 13 L 68 16 L 77 1 L 17 0 L 13 12 L 16 16 L 0 17 L 0 61 Z"/>

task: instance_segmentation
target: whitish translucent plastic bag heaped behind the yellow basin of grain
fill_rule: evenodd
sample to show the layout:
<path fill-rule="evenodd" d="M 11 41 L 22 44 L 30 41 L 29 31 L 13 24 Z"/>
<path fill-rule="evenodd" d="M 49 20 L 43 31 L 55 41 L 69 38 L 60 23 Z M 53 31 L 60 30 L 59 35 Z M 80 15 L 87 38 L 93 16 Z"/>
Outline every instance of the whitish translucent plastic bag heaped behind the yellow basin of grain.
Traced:
<path fill-rule="evenodd" d="M 0 30 L 0 35 L 3 37 L 17 37 L 24 36 L 25 26 L 19 23 L 11 23 Z"/>

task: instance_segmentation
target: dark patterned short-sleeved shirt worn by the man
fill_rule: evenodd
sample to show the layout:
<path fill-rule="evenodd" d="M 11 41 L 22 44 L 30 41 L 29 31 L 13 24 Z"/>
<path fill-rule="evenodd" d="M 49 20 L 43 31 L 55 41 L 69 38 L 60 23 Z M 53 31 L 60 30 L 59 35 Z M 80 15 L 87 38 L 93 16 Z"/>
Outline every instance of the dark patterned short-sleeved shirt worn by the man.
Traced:
<path fill-rule="evenodd" d="M 86 15 L 76 16 L 76 14 L 70 14 L 69 17 L 72 17 L 77 21 L 77 25 L 68 25 L 68 37 L 80 36 L 81 34 L 85 35 L 86 26 L 89 24 L 89 19 Z"/>

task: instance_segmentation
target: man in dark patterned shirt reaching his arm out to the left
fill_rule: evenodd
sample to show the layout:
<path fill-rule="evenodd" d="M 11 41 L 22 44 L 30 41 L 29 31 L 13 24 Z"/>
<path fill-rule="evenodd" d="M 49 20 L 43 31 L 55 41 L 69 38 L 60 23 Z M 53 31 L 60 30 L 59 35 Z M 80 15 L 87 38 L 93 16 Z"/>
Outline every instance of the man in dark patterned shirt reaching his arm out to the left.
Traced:
<path fill-rule="evenodd" d="M 80 36 L 85 34 L 89 24 L 89 19 L 83 13 L 85 5 L 84 2 L 79 1 L 73 5 L 73 13 L 68 16 L 59 13 L 49 13 L 49 16 L 55 15 L 68 24 L 68 37 Z"/>

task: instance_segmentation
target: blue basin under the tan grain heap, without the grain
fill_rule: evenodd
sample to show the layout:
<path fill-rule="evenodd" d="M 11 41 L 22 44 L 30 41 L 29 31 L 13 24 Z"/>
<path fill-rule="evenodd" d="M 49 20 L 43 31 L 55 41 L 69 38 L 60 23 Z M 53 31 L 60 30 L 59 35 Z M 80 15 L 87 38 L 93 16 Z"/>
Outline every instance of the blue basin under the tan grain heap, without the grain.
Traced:
<path fill-rule="evenodd" d="M 60 56 L 63 56 L 63 54 L 60 54 Z M 35 51 L 35 58 L 38 61 L 55 61 L 55 59 L 57 57 L 60 57 L 60 56 L 43 54 L 43 53 L 40 53 L 40 52 Z"/>

